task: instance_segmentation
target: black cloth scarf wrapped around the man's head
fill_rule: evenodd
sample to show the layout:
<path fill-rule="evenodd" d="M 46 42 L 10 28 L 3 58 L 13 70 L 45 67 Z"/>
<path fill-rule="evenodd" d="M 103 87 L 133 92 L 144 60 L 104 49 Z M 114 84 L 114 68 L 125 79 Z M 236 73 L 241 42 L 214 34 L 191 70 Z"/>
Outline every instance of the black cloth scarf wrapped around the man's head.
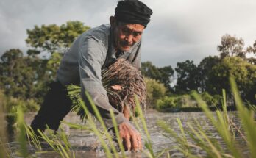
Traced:
<path fill-rule="evenodd" d="M 152 10 L 138 0 L 119 1 L 115 8 L 115 18 L 129 24 L 141 24 L 146 27 L 150 21 Z"/>

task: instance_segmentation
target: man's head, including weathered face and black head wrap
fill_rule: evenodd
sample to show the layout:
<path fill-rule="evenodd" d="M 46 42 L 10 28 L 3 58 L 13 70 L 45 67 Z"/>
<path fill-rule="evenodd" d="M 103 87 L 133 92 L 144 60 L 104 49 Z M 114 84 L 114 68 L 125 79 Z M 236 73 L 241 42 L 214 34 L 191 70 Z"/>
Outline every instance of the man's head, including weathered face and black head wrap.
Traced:
<path fill-rule="evenodd" d="M 113 29 L 115 49 L 129 51 L 138 40 L 141 40 L 143 29 L 150 21 L 152 10 L 138 0 L 119 1 L 115 16 L 110 17 Z"/>

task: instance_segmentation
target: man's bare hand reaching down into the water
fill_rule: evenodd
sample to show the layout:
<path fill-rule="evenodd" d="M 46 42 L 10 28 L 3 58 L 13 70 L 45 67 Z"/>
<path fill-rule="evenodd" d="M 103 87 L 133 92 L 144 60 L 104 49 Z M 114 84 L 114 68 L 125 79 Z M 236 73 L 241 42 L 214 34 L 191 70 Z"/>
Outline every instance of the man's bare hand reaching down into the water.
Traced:
<path fill-rule="evenodd" d="M 125 150 L 141 151 L 141 134 L 132 126 L 129 121 L 121 123 L 119 126 L 119 134 L 123 140 Z"/>

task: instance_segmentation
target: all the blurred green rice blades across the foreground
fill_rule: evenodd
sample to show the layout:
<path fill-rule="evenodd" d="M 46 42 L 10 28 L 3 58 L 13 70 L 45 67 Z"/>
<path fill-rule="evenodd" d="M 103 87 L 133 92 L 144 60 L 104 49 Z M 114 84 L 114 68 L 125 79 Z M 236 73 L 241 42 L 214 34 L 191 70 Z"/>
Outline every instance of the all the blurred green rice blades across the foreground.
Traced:
<path fill-rule="evenodd" d="M 163 148 L 162 151 L 155 153 L 153 151 L 152 140 L 149 134 L 149 131 L 146 126 L 146 120 L 143 116 L 143 112 L 138 102 L 136 105 L 136 109 L 138 111 L 138 119 L 132 117 L 132 121 L 135 124 L 136 128 L 142 133 L 144 146 L 146 147 L 143 150 L 143 153 L 146 157 L 171 157 L 171 151 L 174 149 L 178 150 L 183 154 L 183 157 L 256 157 L 256 126 L 255 126 L 255 107 L 252 109 L 246 109 L 243 105 L 243 101 L 238 94 L 238 89 L 235 85 L 235 81 L 230 79 L 232 93 L 235 98 L 235 105 L 238 109 L 238 118 L 241 121 L 242 129 L 240 129 L 235 123 L 232 121 L 232 115 L 227 113 L 227 105 L 225 100 L 225 93 L 223 95 L 223 111 L 216 110 L 215 114 L 210 112 L 207 104 L 202 101 L 202 98 L 196 93 L 193 93 L 193 96 L 196 98 L 196 101 L 199 103 L 199 106 L 202 108 L 205 116 L 213 125 L 216 132 L 223 140 L 223 144 L 221 144 L 217 138 L 211 137 L 209 132 L 205 131 L 203 126 L 198 122 L 191 124 L 188 122 L 181 122 L 179 118 L 177 118 L 177 123 L 179 125 L 180 134 L 174 132 L 173 128 L 168 125 L 168 123 L 164 121 L 157 121 L 157 125 L 160 126 L 161 129 L 165 132 L 164 136 L 168 139 L 174 140 L 176 142 L 176 146 L 170 146 L 169 148 Z M 88 96 L 88 93 L 86 94 Z M 90 96 L 88 96 L 90 98 Z M 90 103 L 93 106 L 93 111 L 96 114 L 96 118 L 99 120 L 102 131 L 99 130 L 99 127 L 96 126 L 96 123 L 93 121 L 92 115 L 88 112 L 87 107 L 83 103 L 83 101 L 79 101 L 82 108 L 85 111 L 85 114 L 88 116 L 87 122 L 88 125 L 85 129 L 93 132 L 99 139 L 99 142 L 104 149 L 104 153 L 106 157 L 127 157 L 124 151 L 124 146 L 122 145 L 122 141 L 120 136 L 118 135 L 118 126 L 116 124 L 113 111 L 110 111 L 112 115 L 112 121 L 114 124 L 114 129 L 118 146 L 115 146 L 115 141 L 113 140 L 113 136 L 107 131 L 106 126 L 102 120 L 102 117 L 97 109 L 97 107 L 90 100 Z M 42 148 L 40 146 L 40 141 L 38 137 L 35 137 L 35 134 L 26 126 L 23 121 L 21 110 L 18 110 L 18 129 L 19 136 L 18 142 L 20 143 L 19 153 L 21 157 L 29 157 L 27 148 L 26 148 L 26 139 L 25 134 L 28 134 L 29 142 L 32 143 L 32 146 L 38 151 L 41 151 Z M 139 121 L 138 121 L 139 120 Z M 79 125 L 70 126 L 82 128 Z M 184 129 L 187 127 L 189 130 Z M 40 132 L 40 131 L 39 131 Z M 243 148 L 239 146 L 239 143 L 236 140 L 236 137 L 242 137 L 244 142 L 246 142 L 246 146 L 243 148 L 248 148 L 249 154 L 243 153 Z M 49 146 L 53 148 L 54 151 L 60 154 L 61 157 L 75 157 L 74 152 L 72 152 L 72 148 L 70 143 L 68 143 L 68 137 L 65 136 L 64 132 L 60 132 L 59 134 L 54 134 L 53 132 L 49 132 L 49 134 L 44 134 L 40 132 L 40 138 L 45 140 L 46 143 L 49 143 Z M 3 145 L 1 143 L 1 145 Z M 4 149 L 4 151 L 7 151 Z M 1 150 L 0 154 L 5 154 L 6 157 L 11 157 L 8 152 L 4 152 Z M 121 152 L 119 152 L 121 151 Z"/>

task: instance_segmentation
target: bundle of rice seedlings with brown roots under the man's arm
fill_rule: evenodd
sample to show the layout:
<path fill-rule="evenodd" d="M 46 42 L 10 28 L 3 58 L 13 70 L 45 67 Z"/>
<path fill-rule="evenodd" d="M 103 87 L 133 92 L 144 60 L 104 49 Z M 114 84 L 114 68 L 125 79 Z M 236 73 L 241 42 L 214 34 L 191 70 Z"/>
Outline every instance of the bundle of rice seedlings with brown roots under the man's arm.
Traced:
<path fill-rule="evenodd" d="M 138 99 L 141 107 L 146 107 L 146 84 L 141 72 L 129 61 L 118 59 L 102 70 L 102 85 L 107 90 L 110 104 L 119 112 L 123 112 L 127 119 L 130 118 L 130 112 L 136 116 L 135 98 Z M 78 99 L 79 87 L 69 86 L 68 94 L 74 103 L 72 110 L 77 112 L 82 120 L 85 119 L 85 112 Z"/>

